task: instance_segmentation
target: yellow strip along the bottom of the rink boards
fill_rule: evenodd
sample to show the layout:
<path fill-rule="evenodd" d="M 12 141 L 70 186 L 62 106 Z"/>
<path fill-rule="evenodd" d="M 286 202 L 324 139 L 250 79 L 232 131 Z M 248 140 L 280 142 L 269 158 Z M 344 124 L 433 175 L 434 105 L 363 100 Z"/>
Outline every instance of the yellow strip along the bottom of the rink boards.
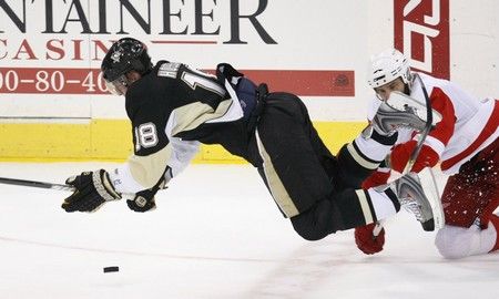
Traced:
<path fill-rule="evenodd" d="M 365 122 L 314 122 L 333 153 L 353 141 Z M 132 130 L 126 120 L 84 123 L 0 123 L 0 161 L 125 161 L 132 153 Z M 238 164 L 242 158 L 220 145 L 202 145 L 194 163 Z"/>

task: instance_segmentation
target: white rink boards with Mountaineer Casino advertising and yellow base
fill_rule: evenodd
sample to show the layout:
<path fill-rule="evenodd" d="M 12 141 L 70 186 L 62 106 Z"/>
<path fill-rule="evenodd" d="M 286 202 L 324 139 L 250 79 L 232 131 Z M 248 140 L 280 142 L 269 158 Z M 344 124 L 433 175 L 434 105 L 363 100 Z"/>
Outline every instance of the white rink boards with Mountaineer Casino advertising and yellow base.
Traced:
<path fill-rule="evenodd" d="M 0 159 L 125 158 L 124 101 L 99 72 L 123 37 L 141 39 L 153 61 L 206 71 L 228 62 L 297 94 L 336 152 L 365 126 L 374 95 L 366 65 L 386 48 L 480 99 L 498 97 L 498 10 L 495 0 L 0 1 Z M 238 162 L 218 146 L 203 146 L 195 161 Z"/>

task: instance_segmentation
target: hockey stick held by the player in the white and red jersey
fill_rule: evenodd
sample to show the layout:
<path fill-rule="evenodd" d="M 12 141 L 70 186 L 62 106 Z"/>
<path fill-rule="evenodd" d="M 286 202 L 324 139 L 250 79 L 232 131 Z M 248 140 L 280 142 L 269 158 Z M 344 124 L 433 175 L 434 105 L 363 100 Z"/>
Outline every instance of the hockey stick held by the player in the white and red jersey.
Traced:
<path fill-rule="evenodd" d="M 419 152 L 422 148 L 422 144 L 425 143 L 426 137 L 428 136 L 429 132 L 431 131 L 431 126 L 434 123 L 434 113 L 431 109 L 431 102 L 429 100 L 428 91 L 426 90 L 425 83 L 422 83 L 421 78 L 418 73 L 414 73 L 415 78 L 419 81 L 421 84 L 422 95 L 425 96 L 425 104 L 426 104 L 426 124 L 422 132 L 420 132 L 418 136 L 418 141 L 416 143 L 416 147 L 414 148 L 413 153 L 410 153 L 409 159 L 407 161 L 406 167 L 404 167 L 403 175 L 406 175 L 410 172 L 414 164 L 416 163 L 416 159 L 419 156 Z M 432 175 L 432 173 L 431 173 Z M 376 226 L 373 230 L 373 236 L 376 239 L 376 237 L 381 233 L 384 220 L 376 221 Z"/>

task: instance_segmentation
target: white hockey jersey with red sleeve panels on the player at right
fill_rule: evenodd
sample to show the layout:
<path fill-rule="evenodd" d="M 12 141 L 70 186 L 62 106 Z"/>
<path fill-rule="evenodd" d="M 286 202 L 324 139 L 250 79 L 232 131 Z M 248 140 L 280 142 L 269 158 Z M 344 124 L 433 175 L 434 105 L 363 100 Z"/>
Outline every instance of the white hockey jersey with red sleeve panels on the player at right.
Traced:
<path fill-rule="evenodd" d="M 499 136 L 498 100 L 478 100 L 448 80 L 418 74 L 428 92 L 432 109 L 442 116 L 427 136 L 425 144 L 439 155 L 444 173 L 456 174 L 464 163 Z M 413 83 L 410 96 L 425 103 L 418 80 Z M 373 120 L 380 103 L 377 97 L 371 100 L 368 109 L 369 121 Z M 401 128 L 397 143 L 405 143 L 413 137 L 414 132 Z"/>

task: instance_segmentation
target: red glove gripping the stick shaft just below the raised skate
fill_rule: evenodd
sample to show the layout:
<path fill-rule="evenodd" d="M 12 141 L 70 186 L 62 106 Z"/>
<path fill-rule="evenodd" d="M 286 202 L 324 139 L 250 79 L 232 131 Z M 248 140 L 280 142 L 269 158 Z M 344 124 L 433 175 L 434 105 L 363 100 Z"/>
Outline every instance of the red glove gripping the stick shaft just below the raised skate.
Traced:
<path fill-rule="evenodd" d="M 416 141 L 397 144 L 394 150 L 391 150 L 390 154 L 389 164 L 391 169 L 399 173 L 404 172 L 404 168 L 406 167 L 411 153 L 416 148 Z M 434 167 L 437 165 L 438 159 L 439 156 L 437 152 L 435 152 L 430 146 L 424 144 L 410 171 L 414 173 L 419 173 L 425 167 Z"/>

